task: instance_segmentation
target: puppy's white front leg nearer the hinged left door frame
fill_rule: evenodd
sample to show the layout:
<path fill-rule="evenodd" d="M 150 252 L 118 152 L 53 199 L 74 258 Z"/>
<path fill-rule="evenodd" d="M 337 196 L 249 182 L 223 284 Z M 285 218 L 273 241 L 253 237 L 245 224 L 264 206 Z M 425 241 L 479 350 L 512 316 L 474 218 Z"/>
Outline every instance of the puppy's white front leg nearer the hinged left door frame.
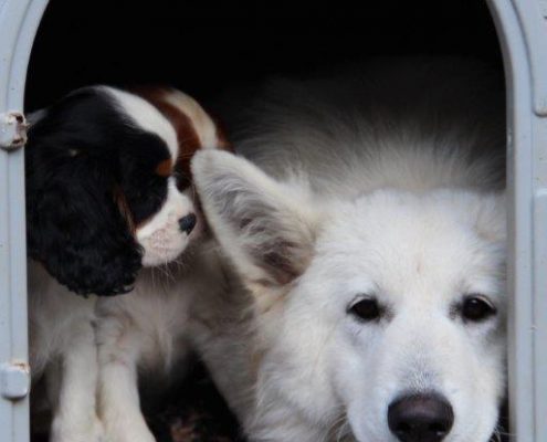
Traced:
<path fill-rule="evenodd" d="M 51 442 L 103 441 L 96 414 L 97 350 L 91 322 L 71 329 L 60 357 L 46 370 L 48 396 L 53 406 Z"/>

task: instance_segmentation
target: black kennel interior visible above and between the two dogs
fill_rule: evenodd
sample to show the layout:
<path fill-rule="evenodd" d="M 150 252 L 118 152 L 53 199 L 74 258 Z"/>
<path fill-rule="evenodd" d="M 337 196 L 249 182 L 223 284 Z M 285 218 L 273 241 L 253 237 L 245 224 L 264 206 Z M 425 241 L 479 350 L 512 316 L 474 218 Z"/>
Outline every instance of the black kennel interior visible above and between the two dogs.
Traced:
<path fill-rule="evenodd" d="M 25 105 L 33 110 L 97 83 L 169 84 L 207 103 L 267 75 L 401 54 L 478 57 L 502 69 L 480 0 L 51 0 Z M 170 396 L 149 414 L 159 440 L 238 440 L 202 369 Z"/>

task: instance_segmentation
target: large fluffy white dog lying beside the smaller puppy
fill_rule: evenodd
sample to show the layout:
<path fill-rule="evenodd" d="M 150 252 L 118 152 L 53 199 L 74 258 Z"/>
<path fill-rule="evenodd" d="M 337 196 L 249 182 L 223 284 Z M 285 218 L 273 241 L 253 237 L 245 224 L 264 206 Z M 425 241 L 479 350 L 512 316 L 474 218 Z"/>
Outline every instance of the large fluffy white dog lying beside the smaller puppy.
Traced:
<path fill-rule="evenodd" d="M 505 209 L 487 152 L 504 131 L 487 81 L 445 61 L 282 84 L 235 139 L 269 175 L 228 152 L 194 158 L 250 292 L 196 299 L 196 343 L 251 441 L 494 433 Z"/>

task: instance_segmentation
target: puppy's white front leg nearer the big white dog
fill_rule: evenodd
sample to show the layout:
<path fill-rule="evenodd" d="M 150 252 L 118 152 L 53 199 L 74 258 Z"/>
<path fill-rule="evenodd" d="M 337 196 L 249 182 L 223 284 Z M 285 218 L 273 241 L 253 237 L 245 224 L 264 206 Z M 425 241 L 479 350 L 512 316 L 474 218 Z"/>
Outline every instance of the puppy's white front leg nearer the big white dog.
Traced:
<path fill-rule="evenodd" d="M 140 339 L 115 317 L 99 323 L 99 415 L 108 442 L 155 442 L 140 411 L 137 365 Z"/>

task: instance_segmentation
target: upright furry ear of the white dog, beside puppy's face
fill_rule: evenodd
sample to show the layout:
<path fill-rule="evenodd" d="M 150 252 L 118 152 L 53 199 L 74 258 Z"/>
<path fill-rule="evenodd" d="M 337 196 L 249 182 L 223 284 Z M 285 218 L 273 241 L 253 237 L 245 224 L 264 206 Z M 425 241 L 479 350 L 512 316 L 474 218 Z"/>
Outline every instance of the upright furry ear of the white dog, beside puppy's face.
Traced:
<path fill-rule="evenodd" d="M 223 151 L 197 154 L 192 172 L 207 219 L 245 283 L 284 286 L 305 271 L 317 219 L 305 198 Z"/>

